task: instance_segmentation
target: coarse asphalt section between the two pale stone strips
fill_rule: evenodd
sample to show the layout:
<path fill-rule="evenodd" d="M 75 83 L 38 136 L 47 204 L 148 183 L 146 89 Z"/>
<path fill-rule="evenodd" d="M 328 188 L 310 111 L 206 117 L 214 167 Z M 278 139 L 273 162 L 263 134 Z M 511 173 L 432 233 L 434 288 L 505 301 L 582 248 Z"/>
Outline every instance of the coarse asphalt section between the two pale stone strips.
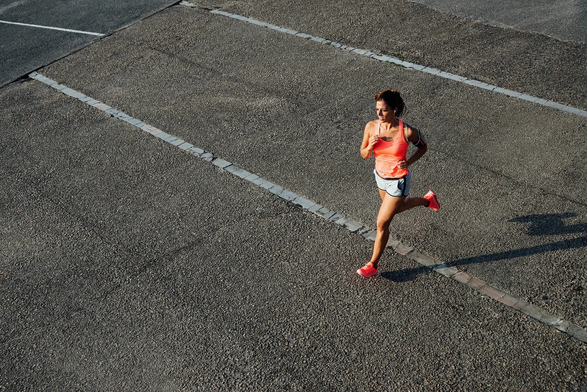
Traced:
<path fill-rule="evenodd" d="M 393 236 L 587 326 L 583 118 L 179 6 L 42 72 L 371 227 L 358 150 L 373 93 L 398 88 L 431 145 L 412 195 L 443 209 Z"/>

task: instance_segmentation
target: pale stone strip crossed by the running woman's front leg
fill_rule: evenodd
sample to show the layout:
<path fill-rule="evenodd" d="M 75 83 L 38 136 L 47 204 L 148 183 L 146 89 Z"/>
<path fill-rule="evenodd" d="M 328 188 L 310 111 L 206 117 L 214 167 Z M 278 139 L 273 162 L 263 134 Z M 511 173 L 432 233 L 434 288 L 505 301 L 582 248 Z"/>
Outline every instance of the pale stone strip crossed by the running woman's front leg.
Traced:
<path fill-rule="evenodd" d="M 120 112 L 120 110 L 114 109 L 106 103 L 100 102 L 97 99 L 90 98 L 89 96 L 83 95 L 80 92 L 77 92 L 73 89 L 70 89 L 64 85 L 59 84 L 53 79 L 46 78 L 45 76 L 41 75 L 41 73 L 32 72 L 28 75 L 32 79 L 36 79 L 39 82 L 43 82 L 52 88 L 59 90 L 60 92 L 69 95 L 73 98 L 79 99 L 82 102 L 85 102 L 87 105 L 93 106 L 93 108 L 102 110 L 105 113 L 108 113 L 111 116 L 116 117 L 117 119 L 123 120 L 129 123 L 136 128 L 143 130 L 143 132 L 149 133 L 150 135 L 155 136 L 158 139 L 163 140 L 164 142 L 170 143 L 171 145 L 176 146 L 184 150 L 187 153 L 197 156 L 198 158 L 204 159 L 207 162 L 212 163 L 212 165 L 217 166 L 220 170 L 225 170 L 227 172 L 232 173 L 237 177 L 241 177 L 244 180 L 254 183 L 262 187 L 263 189 L 268 190 L 271 193 L 281 197 L 282 199 L 288 200 L 289 202 L 301 206 L 302 209 L 308 210 L 309 212 L 313 213 L 314 215 L 318 215 L 323 217 L 324 219 L 329 220 L 330 222 L 334 222 L 336 225 L 342 226 L 345 229 L 349 230 L 351 233 L 357 233 L 360 236 L 365 237 L 367 240 L 375 241 L 376 231 L 371 229 L 370 227 L 363 226 L 359 222 L 355 222 L 348 217 L 345 217 L 336 211 L 330 210 L 327 207 L 321 206 L 318 203 L 312 202 L 312 200 L 305 199 L 302 196 L 297 195 L 294 192 L 285 189 L 282 186 L 279 186 L 275 183 L 272 183 L 269 180 L 266 180 L 262 177 L 259 177 L 256 174 L 250 173 L 245 169 L 241 169 L 238 166 L 232 165 L 232 163 L 228 162 L 228 160 L 224 160 L 215 156 L 214 154 L 204 151 L 201 148 L 198 148 L 191 143 L 186 142 L 185 140 L 181 140 L 176 138 L 169 133 L 163 132 L 160 129 L 155 128 L 152 125 L 144 123 L 143 121 L 133 118 L 126 113 Z M 417 252 L 416 250 L 412 249 L 411 247 L 403 244 L 399 241 L 394 239 L 389 239 L 387 242 L 387 247 L 393 249 L 394 252 L 401 254 L 402 256 L 406 256 L 411 260 L 414 260 L 417 263 L 422 264 L 425 267 L 428 267 L 437 273 L 444 275 L 446 277 L 450 277 L 451 279 L 456 280 L 459 283 L 464 284 L 467 287 L 477 291 L 478 293 L 484 294 L 494 300 L 505 304 L 512 309 L 521 311 L 524 314 L 544 323 L 548 326 L 553 327 L 556 330 L 566 333 L 568 336 L 574 337 L 577 340 L 580 340 L 584 343 L 587 343 L 587 331 L 582 329 L 581 327 L 569 323 L 569 321 L 562 320 L 559 317 L 556 317 L 552 313 L 548 313 L 545 310 L 539 309 L 538 307 L 529 304 L 517 297 L 512 296 L 506 292 L 503 292 L 496 287 L 490 286 L 489 284 L 483 282 L 483 280 L 477 279 L 476 277 L 467 274 L 465 272 L 461 272 L 454 267 L 447 266 L 444 263 L 441 263 L 438 260 L 433 259 L 426 254 Z"/>

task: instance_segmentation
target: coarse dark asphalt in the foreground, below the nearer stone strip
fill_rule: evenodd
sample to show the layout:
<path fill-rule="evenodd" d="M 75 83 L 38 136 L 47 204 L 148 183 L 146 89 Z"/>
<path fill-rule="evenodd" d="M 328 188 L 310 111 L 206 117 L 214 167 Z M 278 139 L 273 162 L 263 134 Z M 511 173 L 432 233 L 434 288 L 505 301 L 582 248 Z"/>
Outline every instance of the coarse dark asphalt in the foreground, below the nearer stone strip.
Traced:
<path fill-rule="evenodd" d="M 438 274 L 359 280 L 370 243 L 120 120 L 34 81 L 0 102 L 5 390 L 587 382 L 584 344 Z"/>

